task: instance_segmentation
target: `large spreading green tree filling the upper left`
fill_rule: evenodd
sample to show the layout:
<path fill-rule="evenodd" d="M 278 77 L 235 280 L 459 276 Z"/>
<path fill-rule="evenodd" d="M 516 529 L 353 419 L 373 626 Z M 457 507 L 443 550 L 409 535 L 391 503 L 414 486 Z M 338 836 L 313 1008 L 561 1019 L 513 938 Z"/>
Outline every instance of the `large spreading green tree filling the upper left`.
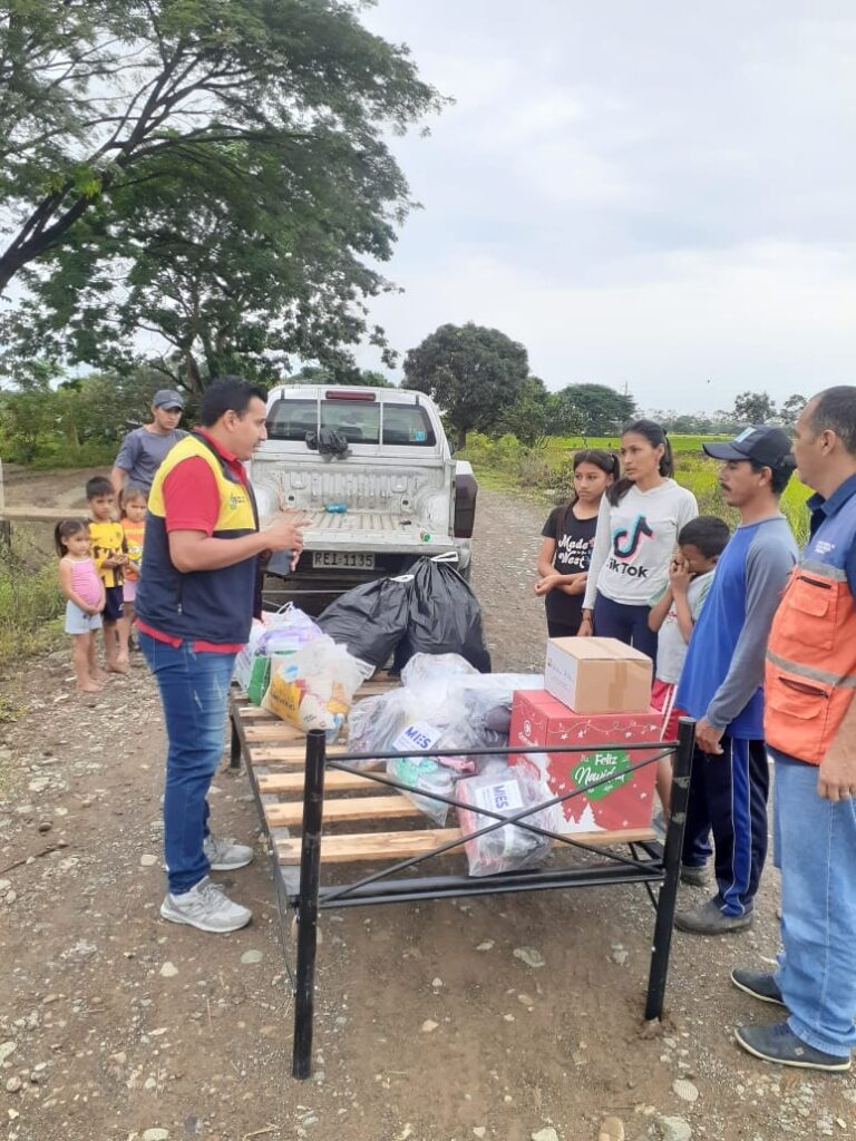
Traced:
<path fill-rule="evenodd" d="M 0 14 L 0 289 L 13 332 L 199 390 L 345 364 L 411 207 L 387 139 L 439 106 L 346 0 L 17 0 Z M 30 267 L 30 272 L 25 270 Z M 41 317 L 41 324 L 37 321 Z M 324 356 L 326 359 L 324 359 Z"/>

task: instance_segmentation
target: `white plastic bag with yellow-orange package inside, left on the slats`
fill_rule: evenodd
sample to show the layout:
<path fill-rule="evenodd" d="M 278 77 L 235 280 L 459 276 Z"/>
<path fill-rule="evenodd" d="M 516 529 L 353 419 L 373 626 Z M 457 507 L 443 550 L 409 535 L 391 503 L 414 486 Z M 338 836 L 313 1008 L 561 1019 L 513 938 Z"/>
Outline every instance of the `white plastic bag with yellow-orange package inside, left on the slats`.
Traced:
<path fill-rule="evenodd" d="M 366 675 L 364 663 L 352 657 L 344 646 L 337 646 L 332 638 L 321 634 L 281 663 L 274 663 L 261 704 L 304 733 L 323 729 L 328 742 L 333 742 Z"/>

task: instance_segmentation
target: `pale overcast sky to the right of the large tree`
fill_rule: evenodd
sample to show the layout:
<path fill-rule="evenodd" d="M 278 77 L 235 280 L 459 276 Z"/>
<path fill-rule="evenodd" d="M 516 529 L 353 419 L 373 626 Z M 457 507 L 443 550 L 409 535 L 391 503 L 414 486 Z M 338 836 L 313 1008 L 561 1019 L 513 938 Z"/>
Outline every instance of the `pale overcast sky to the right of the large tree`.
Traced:
<path fill-rule="evenodd" d="M 522 341 L 645 408 L 856 383 L 856 6 L 380 0 L 455 105 L 395 140 L 413 196 L 372 318 Z M 368 351 L 362 363 L 374 366 Z M 708 383 L 710 381 L 710 383 Z"/>

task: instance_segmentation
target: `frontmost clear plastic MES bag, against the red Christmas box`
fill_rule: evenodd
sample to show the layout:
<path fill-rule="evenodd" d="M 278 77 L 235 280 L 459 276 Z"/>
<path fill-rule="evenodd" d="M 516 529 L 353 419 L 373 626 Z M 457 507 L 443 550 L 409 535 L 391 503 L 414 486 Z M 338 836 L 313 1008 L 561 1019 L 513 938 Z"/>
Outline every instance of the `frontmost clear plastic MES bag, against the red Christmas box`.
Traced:
<path fill-rule="evenodd" d="M 534 777 L 517 768 L 507 766 L 504 771 L 501 768 L 498 771 L 498 768 L 493 766 L 492 772 L 458 782 L 455 799 L 470 806 L 458 809 L 462 832 L 475 832 L 494 823 L 493 817 L 482 815 L 479 808 L 512 816 L 524 808 L 550 799 L 549 788 Z M 532 812 L 525 819 L 527 824 L 534 824 L 539 828 L 550 828 L 550 810 L 543 809 Z M 550 852 L 552 841 L 549 836 L 540 836 L 517 825 L 506 824 L 483 836 L 468 840 L 463 847 L 469 874 L 483 876 L 515 872 L 542 863 Z"/>

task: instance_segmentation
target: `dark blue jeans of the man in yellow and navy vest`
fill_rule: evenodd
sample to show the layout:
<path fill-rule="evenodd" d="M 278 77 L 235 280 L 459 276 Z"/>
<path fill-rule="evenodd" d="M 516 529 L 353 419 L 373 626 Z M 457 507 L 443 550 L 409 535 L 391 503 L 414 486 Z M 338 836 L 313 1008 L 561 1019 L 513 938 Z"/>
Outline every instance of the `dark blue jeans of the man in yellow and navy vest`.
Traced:
<path fill-rule="evenodd" d="M 202 851 L 208 835 L 208 790 L 224 747 L 226 699 L 234 654 L 200 653 L 140 633 L 139 648 L 161 691 L 167 722 L 163 842 L 169 890 L 189 891 L 210 868 Z"/>

